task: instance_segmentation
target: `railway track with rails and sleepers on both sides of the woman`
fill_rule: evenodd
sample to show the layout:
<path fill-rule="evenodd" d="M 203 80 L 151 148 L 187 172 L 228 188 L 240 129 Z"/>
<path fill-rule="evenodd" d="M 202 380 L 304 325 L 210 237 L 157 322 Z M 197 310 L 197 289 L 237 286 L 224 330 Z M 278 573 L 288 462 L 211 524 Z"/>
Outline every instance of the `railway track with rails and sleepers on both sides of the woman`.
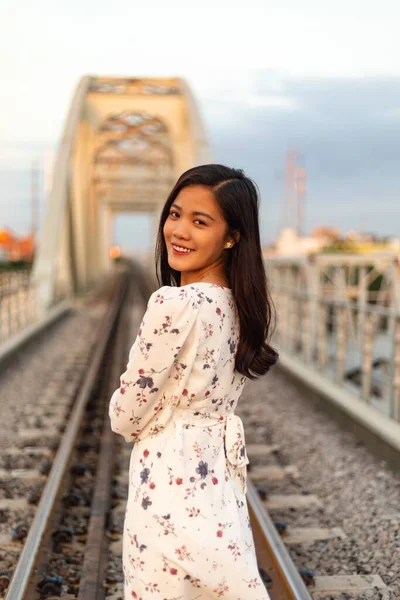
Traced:
<path fill-rule="evenodd" d="M 0 540 L 0 595 L 7 600 L 59 596 L 81 600 L 123 598 L 122 526 L 131 446 L 111 432 L 107 408 L 126 361 L 130 331 L 137 329 L 143 297 L 147 293 L 143 278 L 137 280 L 136 287 L 132 277 L 121 278 L 101 327 L 95 353 L 84 380 L 79 382 L 68 421 L 62 427 L 63 436 L 53 460 L 51 448 L 36 446 L 36 451 L 31 450 L 33 455 L 40 452 L 45 455 L 42 464 L 47 464 L 47 474 L 43 468 L 41 476 L 46 477 L 46 482 L 31 523 L 27 519 L 25 524 L 16 523 L 12 531 L 14 537 L 7 541 L 3 536 Z M 133 324 L 132 305 L 136 310 Z M 359 582 L 357 587 L 355 581 L 347 579 L 347 584 L 342 581 L 340 588 L 338 578 L 336 583 L 333 579 L 328 582 L 327 578 L 323 581 L 313 573 L 298 572 L 288 550 L 291 539 L 286 527 L 282 523 L 274 524 L 268 506 L 271 502 L 272 505 L 273 502 L 290 505 L 301 500 L 293 497 L 277 500 L 256 488 L 270 477 L 295 478 L 298 473 L 295 467 L 263 466 L 264 459 L 273 456 L 276 449 L 253 443 L 252 431 L 248 426 L 246 429 L 252 461 L 249 512 L 260 573 L 272 600 L 340 597 L 337 594 L 347 593 L 350 588 L 361 592 L 366 581 Z M 33 473 L 28 475 L 33 477 Z M 16 480 L 19 476 L 25 477 L 26 491 L 38 495 L 30 489 L 31 480 L 26 471 L 18 474 L 10 469 L 9 476 Z M 34 480 L 37 483 L 37 473 Z M 303 505 L 308 505 L 308 501 L 310 498 L 303 498 Z M 21 498 L 20 506 L 23 510 L 32 505 L 27 506 L 26 499 Z M 15 498 L 9 509 L 18 513 Z M 336 534 L 339 535 L 339 531 Z M 371 581 L 379 583 L 373 576 Z"/>

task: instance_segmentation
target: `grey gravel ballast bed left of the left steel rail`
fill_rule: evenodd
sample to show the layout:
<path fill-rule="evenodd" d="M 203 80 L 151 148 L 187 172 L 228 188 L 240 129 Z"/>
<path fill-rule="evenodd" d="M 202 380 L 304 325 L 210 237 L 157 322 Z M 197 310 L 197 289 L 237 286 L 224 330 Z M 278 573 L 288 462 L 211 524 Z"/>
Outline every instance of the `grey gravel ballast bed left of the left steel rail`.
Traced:
<path fill-rule="evenodd" d="M 74 311 L 1 366 L 0 450 L 18 443 L 18 431 L 42 419 L 76 389 L 93 350 L 106 304 Z"/>

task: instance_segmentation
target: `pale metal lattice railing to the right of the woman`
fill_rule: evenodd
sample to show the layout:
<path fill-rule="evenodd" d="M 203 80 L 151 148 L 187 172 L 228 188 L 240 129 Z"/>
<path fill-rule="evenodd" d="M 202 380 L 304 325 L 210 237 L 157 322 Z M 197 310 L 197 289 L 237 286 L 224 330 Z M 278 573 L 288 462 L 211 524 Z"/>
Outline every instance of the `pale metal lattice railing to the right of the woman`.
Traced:
<path fill-rule="evenodd" d="M 266 268 L 278 350 L 400 421 L 397 257 L 270 258 Z"/>

